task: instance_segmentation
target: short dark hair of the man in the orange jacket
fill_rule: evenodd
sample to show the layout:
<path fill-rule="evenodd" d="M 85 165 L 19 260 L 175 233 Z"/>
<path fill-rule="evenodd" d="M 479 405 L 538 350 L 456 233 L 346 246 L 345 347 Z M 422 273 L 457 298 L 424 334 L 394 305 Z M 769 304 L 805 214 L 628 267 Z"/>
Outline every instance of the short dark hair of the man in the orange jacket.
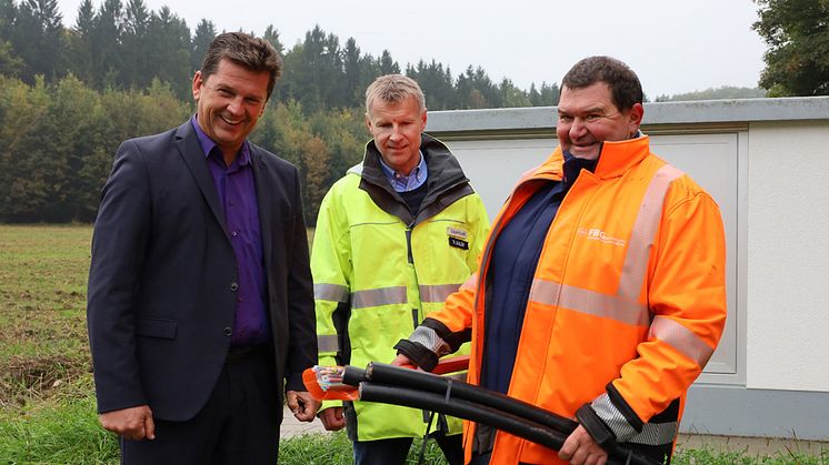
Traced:
<path fill-rule="evenodd" d="M 597 82 L 610 87 L 613 104 L 619 110 L 628 110 L 645 99 L 639 77 L 627 64 L 610 57 L 588 57 L 573 64 L 561 80 L 561 87 L 583 89 Z"/>

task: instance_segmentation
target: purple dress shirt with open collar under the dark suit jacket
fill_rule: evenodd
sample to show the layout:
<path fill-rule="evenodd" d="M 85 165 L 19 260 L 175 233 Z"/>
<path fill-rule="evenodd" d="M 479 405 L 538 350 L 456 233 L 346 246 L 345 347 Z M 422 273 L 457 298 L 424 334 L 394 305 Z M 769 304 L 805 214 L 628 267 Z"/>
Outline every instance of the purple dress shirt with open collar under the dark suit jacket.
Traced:
<path fill-rule="evenodd" d="M 253 169 L 250 165 L 248 142 L 230 166 L 224 164 L 219 146 L 199 127 L 196 117 L 190 120 L 204 151 L 216 191 L 219 193 L 230 244 L 239 267 L 236 324 L 231 345 L 261 344 L 270 338 L 264 306 L 266 284 L 262 256 L 262 236 L 259 228 Z"/>

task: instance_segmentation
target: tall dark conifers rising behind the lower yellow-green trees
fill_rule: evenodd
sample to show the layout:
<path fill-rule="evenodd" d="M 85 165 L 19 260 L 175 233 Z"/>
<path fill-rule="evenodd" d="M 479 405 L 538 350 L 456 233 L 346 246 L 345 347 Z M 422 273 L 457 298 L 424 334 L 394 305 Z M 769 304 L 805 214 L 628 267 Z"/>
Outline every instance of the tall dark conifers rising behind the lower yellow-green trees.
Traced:
<path fill-rule="evenodd" d="M 0 74 L 31 84 L 37 75 L 51 83 L 71 73 L 99 91 L 146 89 L 159 79 L 188 100 L 192 73 L 216 34 L 214 24 L 204 19 L 191 33 L 168 7 L 152 11 L 144 0 L 103 0 L 100 8 L 83 0 L 69 29 L 62 26 L 57 0 L 0 0 Z M 556 84 L 523 91 L 509 79 L 493 82 L 480 67 L 470 65 L 456 77 L 433 60 L 401 69 L 388 50 L 380 57 L 362 53 L 353 38 L 342 44 L 319 27 L 290 49 L 272 26 L 262 38 L 284 59 L 276 100 L 300 101 L 306 112 L 359 107 L 376 77 L 399 72 L 421 83 L 433 110 L 558 102 Z"/>

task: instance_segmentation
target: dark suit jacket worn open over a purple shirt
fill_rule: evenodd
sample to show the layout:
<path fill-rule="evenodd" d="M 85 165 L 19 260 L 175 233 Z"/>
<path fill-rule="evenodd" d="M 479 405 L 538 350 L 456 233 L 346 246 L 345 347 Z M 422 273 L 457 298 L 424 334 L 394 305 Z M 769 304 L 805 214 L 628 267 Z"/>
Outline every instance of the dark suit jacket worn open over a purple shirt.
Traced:
<path fill-rule="evenodd" d="M 261 222 L 273 370 L 287 390 L 317 362 L 313 285 L 299 173 L 250 145 Z M 188 121 L 123 142 L 92 239 L 87 317 L 98 411 L 149 404 L 193 417 L 230 345 L 237 262 L 204 153 Z M 281 392 L 274 392 L 280 401 Z"/>

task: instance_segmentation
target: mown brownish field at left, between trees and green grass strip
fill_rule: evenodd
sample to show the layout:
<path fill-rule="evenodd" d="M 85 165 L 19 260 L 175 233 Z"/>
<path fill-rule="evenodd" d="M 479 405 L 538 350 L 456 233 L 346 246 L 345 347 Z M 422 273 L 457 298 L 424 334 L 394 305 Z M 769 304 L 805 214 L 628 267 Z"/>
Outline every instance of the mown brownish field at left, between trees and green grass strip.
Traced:
<path fill-rule="evenodd" d="M 89 372 L 89 225 L 0 225 L 0 417 Z"/>

